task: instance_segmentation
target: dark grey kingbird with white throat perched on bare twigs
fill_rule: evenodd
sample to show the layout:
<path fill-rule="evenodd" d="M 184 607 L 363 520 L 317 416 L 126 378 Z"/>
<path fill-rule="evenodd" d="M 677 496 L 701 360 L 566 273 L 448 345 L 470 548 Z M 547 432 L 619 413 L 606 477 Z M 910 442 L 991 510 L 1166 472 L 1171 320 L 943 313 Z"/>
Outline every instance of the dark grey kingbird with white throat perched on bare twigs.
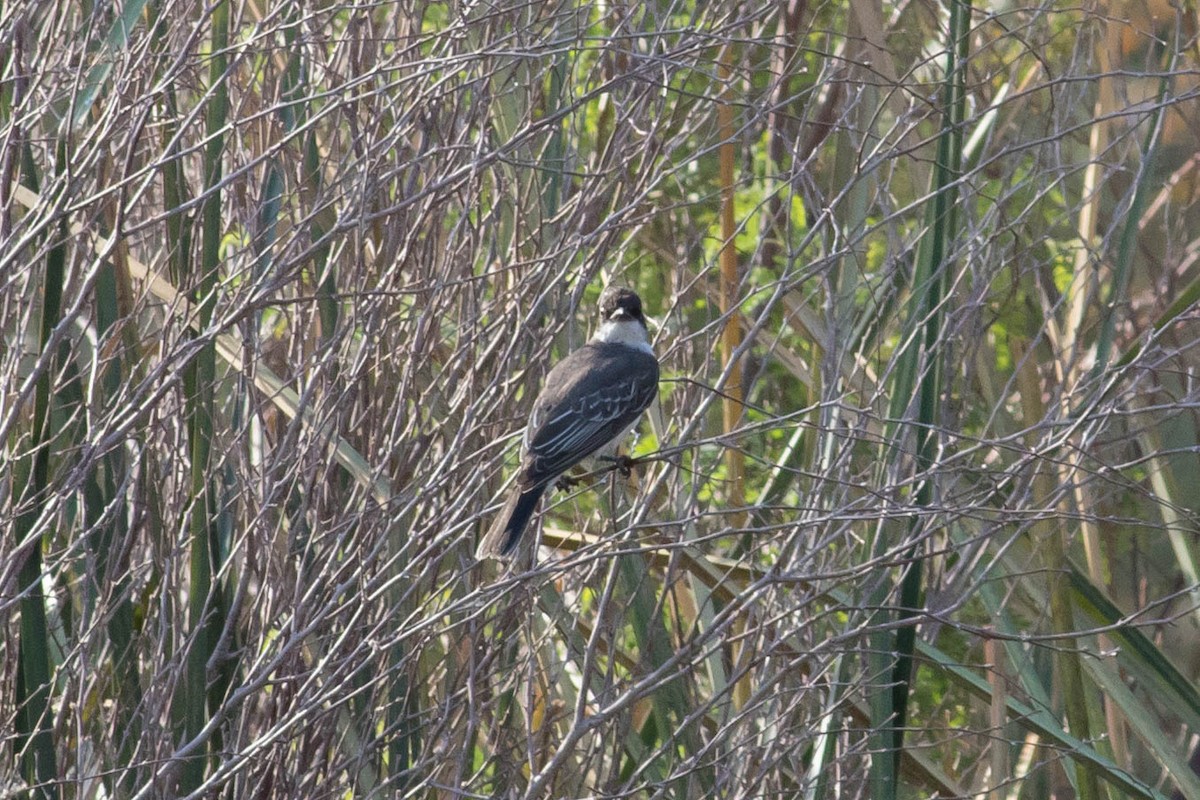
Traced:
<path fill-rule="evenodd" d="M 642 299 L 608 287 L 600 295 L 600 320 L 595 336 L 546 375 L 526 427 L 516 486 L 479 543 L 479 558 L 509 555 L 546 488 L 588 456 L 616 447 L 654 401 L 659 361 Z"/>

